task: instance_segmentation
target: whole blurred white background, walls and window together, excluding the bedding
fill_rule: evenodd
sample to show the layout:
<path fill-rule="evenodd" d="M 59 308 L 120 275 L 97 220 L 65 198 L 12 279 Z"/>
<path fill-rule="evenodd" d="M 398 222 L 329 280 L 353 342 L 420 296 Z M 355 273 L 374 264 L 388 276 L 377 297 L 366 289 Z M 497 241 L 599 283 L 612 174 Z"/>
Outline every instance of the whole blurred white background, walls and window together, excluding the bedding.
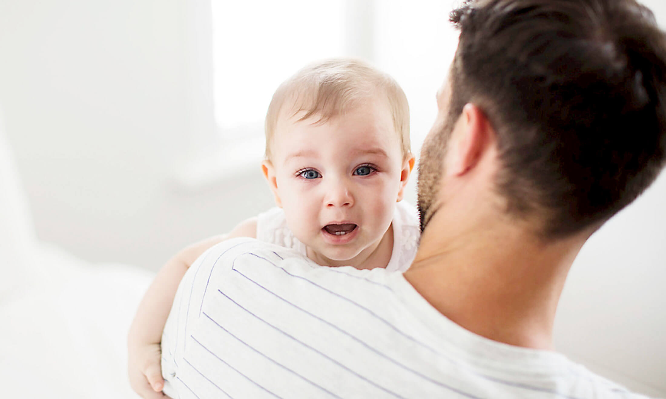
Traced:
<path fill-rule="evenodd" d="M 454 3 L 0 0 L 0 108 L 39 239 L 155 271 L 272 206 L 264 112 L 284 78 L 322 57 L 361 57 L 400 82 L 418 154 L 456 47 Z M 644 3 L 666 26 L 663 0 Z M 593 236 L 556 325 L 559 350 L 655 396 L 666 396 L 665 199 L 661 176 Z"/>

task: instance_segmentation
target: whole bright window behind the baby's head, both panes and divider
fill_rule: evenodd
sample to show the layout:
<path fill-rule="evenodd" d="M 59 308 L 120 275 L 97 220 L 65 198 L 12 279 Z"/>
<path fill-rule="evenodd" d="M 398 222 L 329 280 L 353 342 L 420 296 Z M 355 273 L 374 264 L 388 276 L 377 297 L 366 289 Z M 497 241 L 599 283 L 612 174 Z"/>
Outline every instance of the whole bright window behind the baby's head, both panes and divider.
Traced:
<path fill-rule="evenodd" d="M 457 36 L 446 1 L 212 0 L 215 117 L 227 138 L 262 134 L 272 93 L 302 66 L 355 56 L 392 74 L 420 146 Z"/>

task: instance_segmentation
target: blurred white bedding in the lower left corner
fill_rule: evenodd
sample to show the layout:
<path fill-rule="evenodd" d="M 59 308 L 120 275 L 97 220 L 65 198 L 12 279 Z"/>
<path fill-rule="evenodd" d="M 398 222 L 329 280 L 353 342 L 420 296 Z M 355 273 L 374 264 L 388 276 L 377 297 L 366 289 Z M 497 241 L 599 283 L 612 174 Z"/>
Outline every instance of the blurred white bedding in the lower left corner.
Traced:
<path fill-rule="evenodd" d="M 125 340 L 151 275 L 42 247 L 44 273 L 0 302 L 0 398 L 138 398 Z"/>

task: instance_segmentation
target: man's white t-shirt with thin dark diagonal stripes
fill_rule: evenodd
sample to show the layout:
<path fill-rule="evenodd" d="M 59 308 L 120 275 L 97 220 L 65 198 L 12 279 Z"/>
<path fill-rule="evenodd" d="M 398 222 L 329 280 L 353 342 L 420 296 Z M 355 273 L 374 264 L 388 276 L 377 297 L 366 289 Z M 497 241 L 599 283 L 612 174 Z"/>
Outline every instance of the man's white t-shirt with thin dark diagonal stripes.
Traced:
<path fill-rule="evenodd" d="M 462 329 L 402 276 L 232 239 L 180 283 L 162 340 L 174 398 L 629 398 L 555 352 Z"/>

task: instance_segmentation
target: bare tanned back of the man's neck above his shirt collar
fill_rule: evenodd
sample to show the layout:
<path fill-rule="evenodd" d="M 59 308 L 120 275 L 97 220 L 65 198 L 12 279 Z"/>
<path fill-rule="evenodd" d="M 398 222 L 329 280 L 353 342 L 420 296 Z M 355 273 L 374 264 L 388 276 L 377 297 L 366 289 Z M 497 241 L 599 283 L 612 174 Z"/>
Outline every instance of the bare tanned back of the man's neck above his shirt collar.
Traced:
<path fill-rule="evenodd" d="M 586 236 L 546 244 L 500 220 L 480 217 L 465 228 L 450 224 L 460 220 L 444 218 L 435 215 L 428 224 L 405 278 L 468 331 L 515 346 L 551 349 L 557 302 Z M 457 228 L 437 231 L 436 226 Z"/>

